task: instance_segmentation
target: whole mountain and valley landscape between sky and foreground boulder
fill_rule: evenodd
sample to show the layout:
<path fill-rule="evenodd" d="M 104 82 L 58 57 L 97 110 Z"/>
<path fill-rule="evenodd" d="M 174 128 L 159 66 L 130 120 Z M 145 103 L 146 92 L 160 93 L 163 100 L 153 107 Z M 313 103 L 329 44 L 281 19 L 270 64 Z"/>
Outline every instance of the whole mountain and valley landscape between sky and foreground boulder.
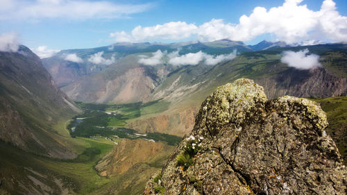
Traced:
<path fill-rule="evenodd" d="M 304 57 L 319 56 L 318 67 L 283 62 L 286 51 L 306 49 Z M 326 131 L 346 158 L 346 62 L 347 44 L 266 41 L 117 43 L 42 60 L 26 46 L 0 52 L 0 194 L 143 192 L 174 151 L 160 140 L 190 133 L 205 98 L 238 78 L 262 85 L 269 100 L 321 102 Z M 119 136 L 133 133 L 75 137 L 71 125 L 83 120 Z"/>

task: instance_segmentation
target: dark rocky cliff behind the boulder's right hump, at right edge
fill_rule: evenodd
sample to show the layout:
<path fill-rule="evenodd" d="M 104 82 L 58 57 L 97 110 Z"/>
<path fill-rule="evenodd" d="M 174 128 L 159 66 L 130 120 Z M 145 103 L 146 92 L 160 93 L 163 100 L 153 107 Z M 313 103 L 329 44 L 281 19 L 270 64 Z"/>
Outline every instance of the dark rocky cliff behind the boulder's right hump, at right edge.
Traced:
<path fill-rule="evenodd" d="M 347 94 L 347 78 L 329 74 L 326 69 L 287 69 L 275 76 L 255 79 L 264 87 L 269 99 L 291 95 L 299 97 L 330 97 Z"/>

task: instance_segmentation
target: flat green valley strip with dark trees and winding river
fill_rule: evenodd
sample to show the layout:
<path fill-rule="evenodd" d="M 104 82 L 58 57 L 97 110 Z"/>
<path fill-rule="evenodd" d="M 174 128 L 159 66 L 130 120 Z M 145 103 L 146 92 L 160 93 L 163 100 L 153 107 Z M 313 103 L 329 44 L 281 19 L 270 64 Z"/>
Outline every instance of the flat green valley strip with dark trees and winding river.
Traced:
<path fill-rule="evenodd" d="M 141 115 L 155 114 L 160 112 L 160 105 L 166 103 L 153 101 L 149 103 L 127 103 L 127 104 L 93 104 L 77 103 L 85 112 L 77 115 L 69 123 L 67 128 L 70 130 L 71 137 L 106 137 L 111 141 L 117 139 L 148 139 L 154 142 L 163 141 L 174 146 L 180 142 L 180 137 L 167 135 L 164 133 L 139 134 L 136 130 L 124 128 L 129 119 L 135 119 Z M 156 109 L 152 108 L 152 105 Z M 164 108 L 165 109 L 165 108 Z M 96 139 L 98 140 L 98 139 Z"/>

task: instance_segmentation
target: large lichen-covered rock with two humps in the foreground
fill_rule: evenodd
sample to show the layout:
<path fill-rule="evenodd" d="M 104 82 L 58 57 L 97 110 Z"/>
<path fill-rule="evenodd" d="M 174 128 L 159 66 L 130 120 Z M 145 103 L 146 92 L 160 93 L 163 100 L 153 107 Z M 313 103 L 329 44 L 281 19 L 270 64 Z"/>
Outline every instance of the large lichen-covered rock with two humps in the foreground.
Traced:
<path fill-rule="evenodd" d="M 341 155 L 320 106 L 241 78 L 218 87 L 144 194 L 346 194 Z"/>

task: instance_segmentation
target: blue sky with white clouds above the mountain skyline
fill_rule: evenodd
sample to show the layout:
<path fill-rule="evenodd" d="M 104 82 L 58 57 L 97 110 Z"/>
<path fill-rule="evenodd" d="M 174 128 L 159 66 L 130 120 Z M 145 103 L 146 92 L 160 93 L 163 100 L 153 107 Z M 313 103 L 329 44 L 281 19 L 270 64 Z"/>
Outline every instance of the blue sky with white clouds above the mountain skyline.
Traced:
<path fill-rule="evenodd" d="M 115 42 L 347 42 L 346 0 L 0 0 L 0 5 L 0 49 L 1 42 L 13 41 L 47 56 Z"/>

